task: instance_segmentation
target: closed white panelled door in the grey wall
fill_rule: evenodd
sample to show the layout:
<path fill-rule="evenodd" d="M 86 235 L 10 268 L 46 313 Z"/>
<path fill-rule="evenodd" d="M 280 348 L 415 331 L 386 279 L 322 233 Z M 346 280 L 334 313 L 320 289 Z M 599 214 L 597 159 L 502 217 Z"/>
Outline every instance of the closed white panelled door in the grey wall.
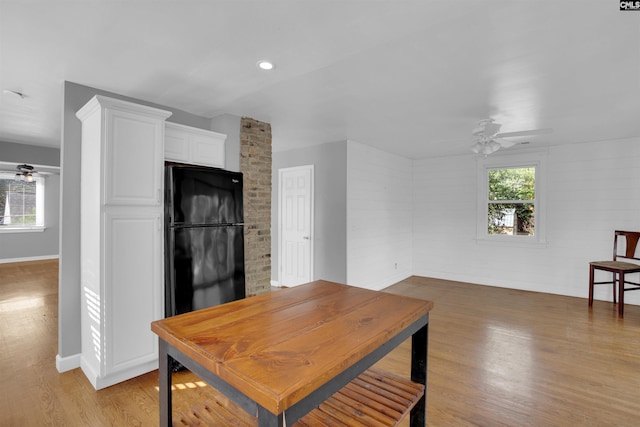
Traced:
<path fill-rule="evenodd" d="M 280 285 L 313 276 L 313 165 L 279 170 Z"/>

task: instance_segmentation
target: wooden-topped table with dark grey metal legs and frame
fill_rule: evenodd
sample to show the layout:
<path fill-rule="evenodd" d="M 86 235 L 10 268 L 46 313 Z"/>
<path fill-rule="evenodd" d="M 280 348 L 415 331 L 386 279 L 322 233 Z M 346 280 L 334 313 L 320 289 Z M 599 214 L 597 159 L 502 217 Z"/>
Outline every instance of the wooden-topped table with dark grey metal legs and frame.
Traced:
<path fill-rule="evenodd" d="M 257 415 L 260 427 L 293 425 L 409 337 L 411 380 L 426 386 L 432 307 L 316 281 L 155 321 L 160 425 L 172 419 L 170 358 Z M 426 390 L 411 409 L 411 426 L 425 424 Z"/>

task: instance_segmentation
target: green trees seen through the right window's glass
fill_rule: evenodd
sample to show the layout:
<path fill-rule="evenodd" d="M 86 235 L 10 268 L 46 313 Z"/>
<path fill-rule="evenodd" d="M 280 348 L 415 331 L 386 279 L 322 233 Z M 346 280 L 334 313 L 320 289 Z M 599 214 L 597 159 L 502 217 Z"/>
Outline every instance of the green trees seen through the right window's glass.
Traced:
<path fill-rule="evenodd" d="M 536 168 L 488 170 L 487 233 L 534 236 Z"/>

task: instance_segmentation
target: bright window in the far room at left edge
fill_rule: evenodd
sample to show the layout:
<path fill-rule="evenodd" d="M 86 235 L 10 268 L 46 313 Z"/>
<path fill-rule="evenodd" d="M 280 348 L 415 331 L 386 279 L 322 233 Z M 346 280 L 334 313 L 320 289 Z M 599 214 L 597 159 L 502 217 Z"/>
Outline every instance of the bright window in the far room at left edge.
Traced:
<path fill-rule="evenodd" d="M 0 232 L 44 230 L 44 179 L 17 181 L 0 172 Z"/>

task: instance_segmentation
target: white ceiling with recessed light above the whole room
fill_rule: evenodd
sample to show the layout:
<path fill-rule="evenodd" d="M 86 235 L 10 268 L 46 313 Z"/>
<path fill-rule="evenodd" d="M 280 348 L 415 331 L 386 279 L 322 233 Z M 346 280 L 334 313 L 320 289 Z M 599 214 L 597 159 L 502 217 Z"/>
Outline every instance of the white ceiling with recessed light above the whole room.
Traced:
<path fill-rule="evenodd" d="M 268 58 L 276 69 L 258 70 Z M 640 12 L 614 0 L 0 0 L 0 140 L 60 146 L 63 82 L 271 123 L 275 151 L 350 139 L 469 152 L 640 136 Z M 517 149 L 517 146 L 515 147 Z"/>

